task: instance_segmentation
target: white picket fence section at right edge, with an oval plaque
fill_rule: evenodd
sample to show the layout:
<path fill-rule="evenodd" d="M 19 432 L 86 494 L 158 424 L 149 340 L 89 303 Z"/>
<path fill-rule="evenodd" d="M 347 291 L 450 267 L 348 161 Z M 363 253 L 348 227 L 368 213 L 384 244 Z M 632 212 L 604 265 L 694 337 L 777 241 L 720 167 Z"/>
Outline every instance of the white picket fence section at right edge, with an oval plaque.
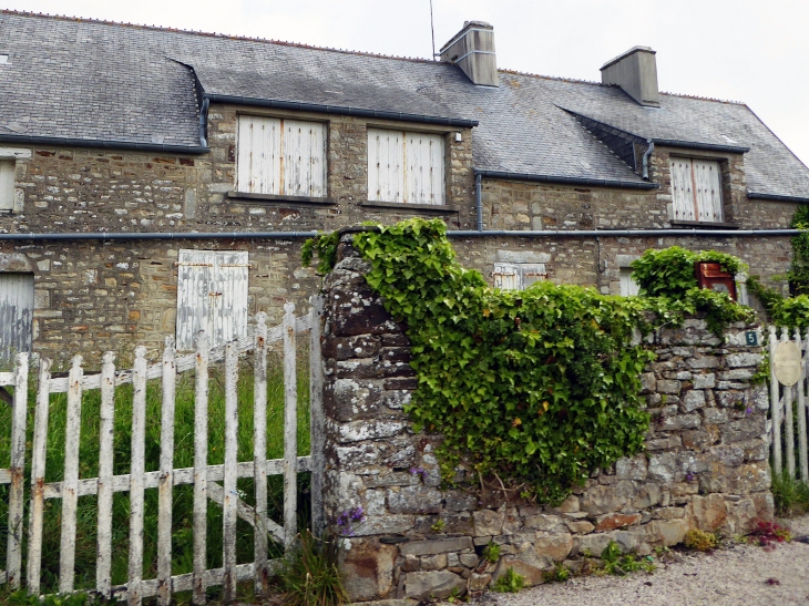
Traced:
<path fill-rule="evenodd" d="M 776 348 L 779 343 L 792 341 L 800 351 L 800 373 L 795 386 L 782 386 L 776 377 Z M 772 468 L 776 474 L 784 471 L 784 455 L 787 456 L 787 473 L 796 477 L 796 453 L 795 436 L 798 434 L 798 463 L 800 465 L 800 479 L 809 481 L 809 455 L 807 453 L 807 387 L 809 377 L 807 371 L 807 355 L 809 353 L 809 330 L 805 335 L 797 328 L 790 335 L 786 328 L 781 328 L 780 338 L 775 326 L 769 327 L 769 358 L 770 358 L 770 419 L 767 421 L 767 430 L 772 448 Z M 793 413 L 797 407 L 797 414 Z M 795 423 L 797 417 L 797 428 Z"/>

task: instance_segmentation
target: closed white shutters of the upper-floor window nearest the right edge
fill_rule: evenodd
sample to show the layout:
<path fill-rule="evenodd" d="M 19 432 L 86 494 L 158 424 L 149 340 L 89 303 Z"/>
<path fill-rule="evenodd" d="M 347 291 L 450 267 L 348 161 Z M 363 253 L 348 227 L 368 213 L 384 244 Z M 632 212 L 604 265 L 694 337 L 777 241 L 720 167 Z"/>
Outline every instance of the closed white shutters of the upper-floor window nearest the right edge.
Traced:
<path fill-rule="evenodd" d="M 721 222 L 719 163 L 673 157 L 672 197 L 675 220 Z"/>

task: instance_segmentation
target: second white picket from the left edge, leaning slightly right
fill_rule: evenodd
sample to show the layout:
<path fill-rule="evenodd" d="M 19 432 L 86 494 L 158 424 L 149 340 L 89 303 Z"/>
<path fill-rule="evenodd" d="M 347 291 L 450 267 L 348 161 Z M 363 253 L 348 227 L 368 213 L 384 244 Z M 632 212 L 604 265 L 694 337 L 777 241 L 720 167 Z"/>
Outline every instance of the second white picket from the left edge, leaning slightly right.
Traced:
<path fill-rule="evenodd" d="M 48 412 L 51 396 L 51 361 L 40 358 L 37 410 L 33 418 L 31 448 L 31 523 L 28 537 L 28 593 L 39 595 L 42 571 L 42 515 L 44 512 L 45 452 L 48 448 Z"/>

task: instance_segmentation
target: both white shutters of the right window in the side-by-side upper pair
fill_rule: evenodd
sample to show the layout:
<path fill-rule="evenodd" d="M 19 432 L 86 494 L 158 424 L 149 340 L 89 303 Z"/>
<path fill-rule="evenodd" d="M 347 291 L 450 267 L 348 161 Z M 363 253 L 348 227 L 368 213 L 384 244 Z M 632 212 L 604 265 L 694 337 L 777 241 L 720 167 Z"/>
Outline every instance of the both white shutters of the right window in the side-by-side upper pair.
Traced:
<path fill-rule="evenodd" d="M 368 129 L 368 199 L 444 204 L 443 135 Z"/>

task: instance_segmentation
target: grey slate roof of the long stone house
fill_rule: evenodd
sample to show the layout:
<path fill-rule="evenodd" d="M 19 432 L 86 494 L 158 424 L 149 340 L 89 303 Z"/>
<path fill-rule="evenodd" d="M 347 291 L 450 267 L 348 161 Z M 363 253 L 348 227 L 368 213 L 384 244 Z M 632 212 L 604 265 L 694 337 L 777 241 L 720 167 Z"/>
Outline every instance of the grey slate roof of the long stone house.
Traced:
<path fill-rule="evenodd" d="M 809 198 L 809 170 L 744 104 L 500 72 L 474 86 L 428 60 L 4 11 L 3 135 L 197 146 L 205 93 L 472 120 L 477 168 L 642 183 L 573 114 L 641 138 L 749 147 L 748 188 Z M 191 69 L 190 69 L 191 68 Z"/>

